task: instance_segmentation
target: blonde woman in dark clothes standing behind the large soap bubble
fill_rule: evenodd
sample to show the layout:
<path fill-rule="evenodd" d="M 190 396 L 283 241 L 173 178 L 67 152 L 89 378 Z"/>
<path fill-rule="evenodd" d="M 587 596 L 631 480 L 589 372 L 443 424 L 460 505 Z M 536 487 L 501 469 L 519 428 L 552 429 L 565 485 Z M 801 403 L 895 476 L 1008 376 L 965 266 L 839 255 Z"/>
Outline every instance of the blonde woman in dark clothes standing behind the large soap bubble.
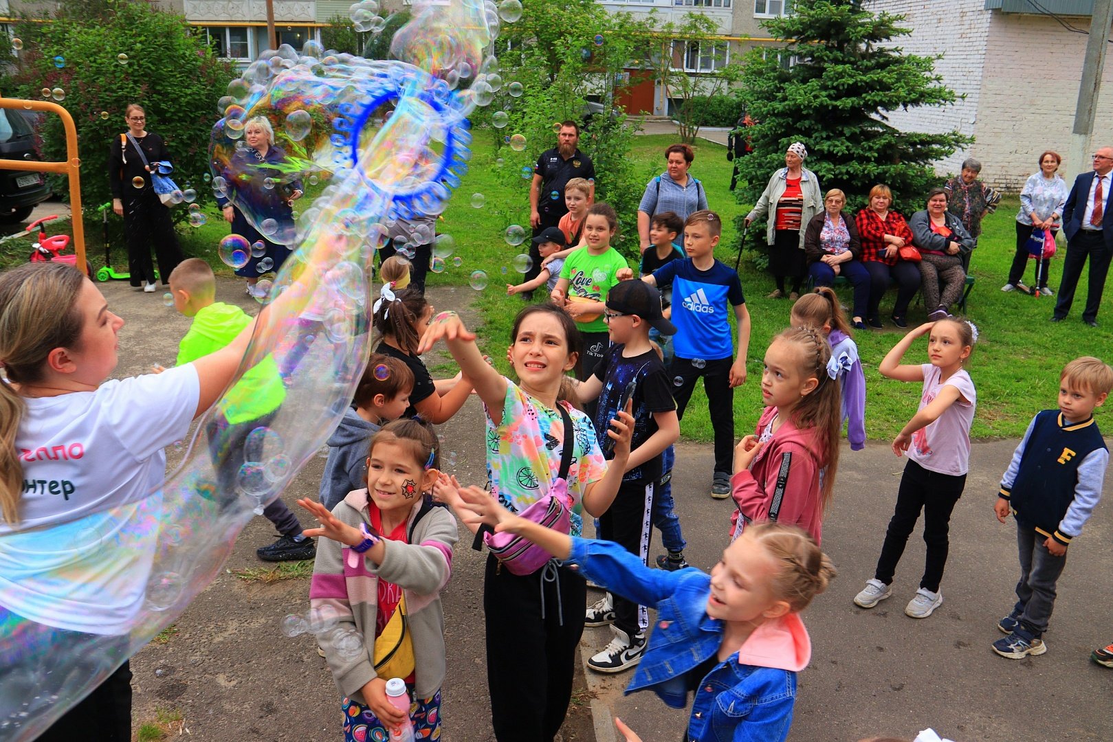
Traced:
<path fill-rule="evenodd" d="M 286 159 L 282 147 L 275 146 L 275 132 L 270 121 L 262 116 L 247 121 L 244 127 L 247 147 L 236 149 L 221 174 L 227 189 L 235 189 L 235 204 L 229 199 L 229 190 L 217 194 L 217 204 L 224 209 L 224 218 L 232 224 L 232 234 L 244 237 L 254 246 L 263 243 L 264 250 L 253 249 L 249 259 L 236 275 L 247 279 L 247 293 L 256 298 L 259 276 L 275 271 L 289 257 L 294 243 L 295 200 L 302 197 L 302 181 L 297 177 L 283 174 L 277 166 Z M 244 216 L 240 205 L 250 204 L 249 210 L 258 224 Z M 273 220 L 274 224 L 269 224 Z M 260 265 L 262 264 L 262 265 Z"/>

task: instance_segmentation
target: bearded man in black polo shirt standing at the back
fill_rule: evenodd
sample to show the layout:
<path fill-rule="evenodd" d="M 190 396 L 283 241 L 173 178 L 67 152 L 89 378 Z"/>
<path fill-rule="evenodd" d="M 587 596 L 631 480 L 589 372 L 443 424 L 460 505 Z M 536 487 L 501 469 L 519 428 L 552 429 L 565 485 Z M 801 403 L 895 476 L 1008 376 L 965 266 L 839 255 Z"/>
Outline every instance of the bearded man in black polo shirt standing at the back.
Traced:
<path fill-rule="evenodd" d="M 555 227 L 560 218 L 568 214 L 568 207 L 564 206 L 564 185 L 572 178 L 583 178 L 590 182 L 591 194 L 588 201 L 595 200 L 595 166 L 587 155 L 577 149 L 579 142 L 580 125 L 575 121 L 564 121 L 556 135 L 556 146 L 541 152 L 538 164 L 533 166 L 530 226 L 533 227 L 534 237 L 546 227 Z M 533 258 L 533 267 L 525 274 L 525 280 L 532 280 L 541 273 L 541 254 L 538 253 L 534 243 L 530 243 L 530 257 Z"/>

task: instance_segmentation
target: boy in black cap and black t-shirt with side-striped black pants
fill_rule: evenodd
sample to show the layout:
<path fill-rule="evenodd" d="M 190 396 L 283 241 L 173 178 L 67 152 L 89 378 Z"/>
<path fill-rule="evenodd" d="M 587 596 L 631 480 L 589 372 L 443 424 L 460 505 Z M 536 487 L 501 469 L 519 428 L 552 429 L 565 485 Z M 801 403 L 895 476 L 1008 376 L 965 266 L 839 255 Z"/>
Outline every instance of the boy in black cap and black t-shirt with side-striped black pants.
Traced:
<path fill-rule="evenodd" d="M 598 398 L 595 431 L 607 458 L 612 457 L 607 431 L 620 408 L 629 405 L 634 428 L 622 485 L 599 518 L 598 535 L 622 544 L 644 563 L 652 535 L 653 487 L 661 478 L 661 453 L 680 437 L 669 376 L 649 342 L 649 329 L 672 335 L 677 328 L 661 314 L 660 291 L 640 280 L 624 280 L 611 288 L 603 319 L 611 347 L 594 373 L 577 386 L 577 393 L 581 402 Z M 615 673 L 638 664 L 649 625 L 646 606 L 608 593 L 588 609 L 584 625 L 608 623 L 613 624 L 614 639 L 588 661 L 588 666 Z"/>

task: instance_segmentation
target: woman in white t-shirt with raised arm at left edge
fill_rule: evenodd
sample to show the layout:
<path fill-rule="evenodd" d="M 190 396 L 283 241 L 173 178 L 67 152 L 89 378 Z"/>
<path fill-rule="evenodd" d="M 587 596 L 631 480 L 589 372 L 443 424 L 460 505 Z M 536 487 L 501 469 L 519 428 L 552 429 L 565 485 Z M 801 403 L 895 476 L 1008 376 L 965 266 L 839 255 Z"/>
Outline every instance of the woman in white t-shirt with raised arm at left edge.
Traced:
<path fill-rule="evenodd" d="M 106 382 L 122 326 L 69 266 L 0 274 L 0 710 L 39 701 L 75 657 L 66 691 L 104 680 L 48 730 L 56 712 L 0 714 L 17 735 L 130 740 L 127 634 L 154 557 L 162 449 L 216 402 L 252 330 L 191 364 Z"/>

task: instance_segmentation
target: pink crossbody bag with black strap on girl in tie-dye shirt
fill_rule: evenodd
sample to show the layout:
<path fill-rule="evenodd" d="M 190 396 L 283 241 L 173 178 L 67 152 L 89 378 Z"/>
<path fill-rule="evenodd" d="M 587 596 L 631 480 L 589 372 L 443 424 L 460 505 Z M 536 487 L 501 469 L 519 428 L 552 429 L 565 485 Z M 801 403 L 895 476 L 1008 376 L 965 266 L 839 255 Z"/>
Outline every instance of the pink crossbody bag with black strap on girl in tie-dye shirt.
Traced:
<path fill-rule="evenodd" d="M 568 471 L 572 466 L 572 417 L 563 405 L 556 404 L 561 417 L 564 418 L 564 448 L 561 451 L 560 471 L 556 479 L 549 485 L 549 492 L 538 502 L 519 513 L 523 518 L 539 523 L 559 533 L 571 531 L 572 516 L 568 496 Z M 506 565 L 511 574 L 532 574 L 544 566 L 552 556 L 533 542 L 511 533 L 495 533 L 491 526 L 484 525 L 475 533 L 472 548 L 480 551 L 480 538 L 487 545 L 500 564 Z"/>

